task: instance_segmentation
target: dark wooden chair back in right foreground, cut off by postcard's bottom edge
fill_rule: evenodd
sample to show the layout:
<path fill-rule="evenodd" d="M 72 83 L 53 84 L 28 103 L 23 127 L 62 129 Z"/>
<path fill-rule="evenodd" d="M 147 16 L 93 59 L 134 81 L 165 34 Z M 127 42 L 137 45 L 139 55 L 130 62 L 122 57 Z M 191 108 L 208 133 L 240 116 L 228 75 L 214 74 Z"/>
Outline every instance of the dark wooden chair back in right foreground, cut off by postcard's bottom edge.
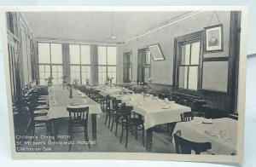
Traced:
<path fill-rule="evenodd" d="M 176 134 L 174 134 L 174 141 L 176 153 L 178 154 L 191 154 L 192 150 L 195 151 L 195 154 L 200 154 L 212 148 L 211 142 L 194 142 L 183 139 L 180 130 L 177 130 Z"/>

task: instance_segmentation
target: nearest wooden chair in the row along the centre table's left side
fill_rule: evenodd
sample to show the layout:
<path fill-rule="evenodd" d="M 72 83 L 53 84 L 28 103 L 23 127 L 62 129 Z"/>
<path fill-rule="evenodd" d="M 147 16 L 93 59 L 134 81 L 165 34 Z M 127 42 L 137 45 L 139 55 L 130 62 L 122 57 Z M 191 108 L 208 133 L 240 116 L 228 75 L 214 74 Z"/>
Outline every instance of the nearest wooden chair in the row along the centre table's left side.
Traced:
<path fill-rule="evenodd" d="M 125 149 L 127 148 L 128 145 L 128 131 L 131 130 L 135 131 L 135 137 L 137 141 L 137 131 L 142 130 L 143 131 L 143 147 L 144 147 L 144 121 L 142 118 L 131 118 L 131 110 L 133 107 L 127 107 L 125 104 L 122 104 L 122 109 L 121 109 L 121 117 L 122 117 L 122 132 L 121 132 L 121 137 L 120 137 L 120 142 L 122 142 L 123 139 L 123 133 L 124 133 L 124 128 L 126 130 L 126 140 L 125 140 Z M 135 127 L 135 130 L 132 129 L 132 127 Z"/>

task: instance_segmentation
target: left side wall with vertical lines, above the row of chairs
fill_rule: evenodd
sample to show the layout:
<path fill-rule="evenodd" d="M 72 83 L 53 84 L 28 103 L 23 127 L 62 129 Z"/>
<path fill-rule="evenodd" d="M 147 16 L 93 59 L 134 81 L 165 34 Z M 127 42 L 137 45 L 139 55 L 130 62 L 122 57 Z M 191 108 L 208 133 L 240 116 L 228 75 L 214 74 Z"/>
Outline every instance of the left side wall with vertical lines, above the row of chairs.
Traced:
<path fill-rule="evenodd" d="M 31 28 L 20 13 L 13 13 L 14 33 L 7 31 L 8 43 L 14 49 L 13 62 L 9 64 L 12 68 L 11 85 L 15 88 L 13 100 L 21 95 L 21 89 L 36 77 L 34 62 L 37 60 L 36 37 L 33 36 Z M 9 54 L 10 55 L 10 54 Z"/>

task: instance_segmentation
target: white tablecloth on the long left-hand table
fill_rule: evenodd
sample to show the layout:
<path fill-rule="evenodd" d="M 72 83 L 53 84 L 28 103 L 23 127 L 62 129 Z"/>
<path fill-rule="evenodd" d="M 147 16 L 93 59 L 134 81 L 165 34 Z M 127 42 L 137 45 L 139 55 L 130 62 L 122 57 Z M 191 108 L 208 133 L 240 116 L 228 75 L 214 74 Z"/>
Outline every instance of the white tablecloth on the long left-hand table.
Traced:
<path fill-rule="evenodd" d="M 67 112 L 67 106 L 70 106 L 73 102 L 79 103 L 79 107 L 89 107 L 89 114 L 102 113 L 101 106 L 96 103 L 96 101 L 91 100 L 89 97 L 81 98 L 80 95 L 77 94 L 77 90 L 73 89 L 73 98 L 69 98 L 69 89 L 62 89 L 59 86 L 55 86 L 53 91 L 57 97 L 57 103 L 56 105 L 51 105 L 51 102 L 49 101 L 48 119 L 68 118 L 69 113 Z"/>

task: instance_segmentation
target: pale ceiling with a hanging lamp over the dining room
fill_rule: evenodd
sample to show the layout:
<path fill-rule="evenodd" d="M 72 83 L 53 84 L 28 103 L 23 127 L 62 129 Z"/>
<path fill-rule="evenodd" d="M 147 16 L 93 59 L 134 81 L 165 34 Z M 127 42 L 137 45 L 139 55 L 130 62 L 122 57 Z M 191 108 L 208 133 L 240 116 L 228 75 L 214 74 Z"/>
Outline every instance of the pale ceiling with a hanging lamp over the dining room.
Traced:
<path fill-rule="evenodd" d="M 32 32 L 39 39 L 55 38 L 93 43 L 118 43 L 149 29 L 183 17 L 189 12 L 23 12 Z"/>

